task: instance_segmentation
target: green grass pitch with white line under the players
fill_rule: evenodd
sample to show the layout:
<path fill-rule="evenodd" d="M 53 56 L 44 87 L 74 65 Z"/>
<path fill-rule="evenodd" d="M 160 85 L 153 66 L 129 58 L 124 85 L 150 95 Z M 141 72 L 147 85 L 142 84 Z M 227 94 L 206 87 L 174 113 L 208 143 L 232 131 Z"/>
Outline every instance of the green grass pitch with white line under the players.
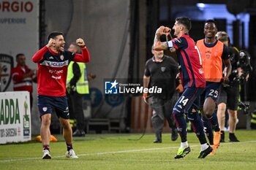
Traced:
<path fill-rule="evenodd" d="M 220 170 L 256 169 L 256 131 L 236 131 L 241 142 L 221 143 L 217 154 L 198 159 L 200 144 L 194 133 L 188 134 L 192 151 L 175 160 L 180 140 L 170 141 L 170 134 L 163 134 L 163 143 L 154 144 L 154 134 L 88 134 L 74 138 L 78 159 L 64 157 L 66 146 L 62 136 L 50 144 L 51 160 L 42 160 L 42 145 L 38 142 L 0 145 L 0 169 L 131 169 L 131 170 Z"/>

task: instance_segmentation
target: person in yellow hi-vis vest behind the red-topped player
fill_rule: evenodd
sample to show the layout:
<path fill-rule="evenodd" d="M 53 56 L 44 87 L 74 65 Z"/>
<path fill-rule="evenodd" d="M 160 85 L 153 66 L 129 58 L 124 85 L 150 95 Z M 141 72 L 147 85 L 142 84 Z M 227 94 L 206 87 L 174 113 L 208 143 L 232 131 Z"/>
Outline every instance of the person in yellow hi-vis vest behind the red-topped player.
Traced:
<path fill-rule="evenodd" d="M 69 45 L 70 52 L 80 53 L 80 47 L 75 43 Z M 89 94 L 89 82 L 95 78 L 95 75 L 87 76 L 86 63 L 74 62 L 69 63 L 67 72 L 67 98 L 69 104 L 70 123 L 76 130 L 73 136 L 85 136 L 84 131 L 86 122 L 83 114 L 83 96 Z M 75 119 L 75 122 L 74 122 Z"/>

